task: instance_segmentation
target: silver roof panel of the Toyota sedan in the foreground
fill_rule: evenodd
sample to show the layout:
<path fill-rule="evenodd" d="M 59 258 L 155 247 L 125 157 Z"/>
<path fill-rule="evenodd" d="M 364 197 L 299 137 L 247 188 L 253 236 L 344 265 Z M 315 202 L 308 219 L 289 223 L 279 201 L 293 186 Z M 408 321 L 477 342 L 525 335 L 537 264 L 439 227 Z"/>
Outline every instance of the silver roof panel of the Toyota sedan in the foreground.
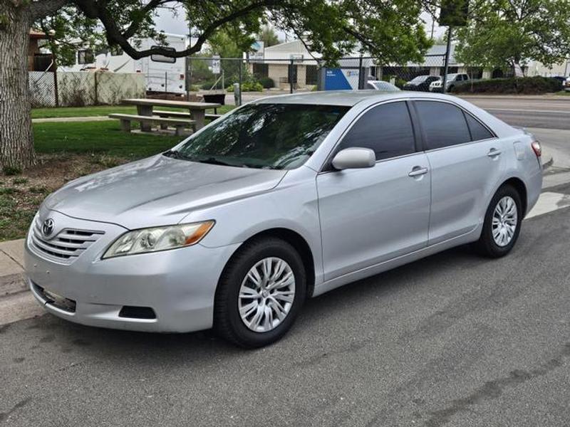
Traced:
<path fill-rule="evenodd" d="M 450 95 L 431 92 L 379 92 L 378 90 L 326 90 L 321 92 L 294 93 L 291 95 L 271 95 L 254 102 L 262 104 L 307 104 L 307 105 L 345 105 L 352 107 L 363 100 L 385 101 L 414 98 L 457 99 Z"/>

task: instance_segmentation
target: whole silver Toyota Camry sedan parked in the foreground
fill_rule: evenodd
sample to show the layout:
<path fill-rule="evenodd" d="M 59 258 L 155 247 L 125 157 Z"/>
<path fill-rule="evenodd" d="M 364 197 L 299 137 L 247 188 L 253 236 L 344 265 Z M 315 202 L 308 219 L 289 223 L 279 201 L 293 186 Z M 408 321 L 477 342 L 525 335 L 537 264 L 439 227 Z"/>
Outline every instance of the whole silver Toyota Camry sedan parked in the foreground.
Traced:
<path fill-rule="evenodd" d="M 260 347 L 307 297 L 465 243 L 507 255 L 540 194 L 540 154 L 448 95 L 266 97 L 48 196 L 26 238 L 28 285 L 71 322 L 214 327 Z"/>

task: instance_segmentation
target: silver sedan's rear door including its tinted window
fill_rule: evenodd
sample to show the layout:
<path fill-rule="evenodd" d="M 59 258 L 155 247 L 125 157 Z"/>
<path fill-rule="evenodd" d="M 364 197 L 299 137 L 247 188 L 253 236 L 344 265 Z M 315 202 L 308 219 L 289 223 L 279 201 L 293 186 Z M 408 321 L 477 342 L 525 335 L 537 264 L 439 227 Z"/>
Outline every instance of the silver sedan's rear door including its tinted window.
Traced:
<path fill-rule="evenodd" d="M 489 193 L 504 173 L 494 137 L 469 112 L 450 102 L 415 100 L 431 171 L 429 244 L 474 230 Z"/>

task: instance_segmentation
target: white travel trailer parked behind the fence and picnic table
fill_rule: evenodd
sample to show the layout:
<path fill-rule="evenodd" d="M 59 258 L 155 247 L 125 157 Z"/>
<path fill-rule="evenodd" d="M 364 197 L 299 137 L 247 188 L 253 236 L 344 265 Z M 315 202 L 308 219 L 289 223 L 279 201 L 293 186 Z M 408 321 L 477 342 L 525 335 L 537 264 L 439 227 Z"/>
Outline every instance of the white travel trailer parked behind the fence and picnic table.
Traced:
<path fill-rule="evenodd" d="M 187 48 L 188 38 L 180 34 L 164 33 L 167 49 L 182 51 Z M 137 46 L 146 50 L 158 46 L 152 38 L 140 40 Z M 88 49 L 79 50 L 76 63 L 67 67 L 58 67 L 60 71 L 109 70 L 113 73 L 142 73 L 145 75 L 147 92 L 182 94 L 186 90 L 185 58 L 168 58 L 152 55 L 139 60 L 130 58 L 120 49 L 94 55 Z"/>

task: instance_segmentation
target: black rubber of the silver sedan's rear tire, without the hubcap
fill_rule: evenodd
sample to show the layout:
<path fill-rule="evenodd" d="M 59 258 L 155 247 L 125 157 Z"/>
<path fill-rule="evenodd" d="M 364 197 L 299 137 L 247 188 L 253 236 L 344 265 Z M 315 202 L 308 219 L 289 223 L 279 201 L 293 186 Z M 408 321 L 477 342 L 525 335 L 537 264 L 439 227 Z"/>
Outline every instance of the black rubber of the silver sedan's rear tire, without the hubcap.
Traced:
<path fill-rule="evenodd" d="M 499 246 L 493 238 L 492 220 L 494 209 L 497 207 L 499 201 L 505 196 L 510 196 L 517 205 L 517 225 L 511 241 L 506 246 Z M 479 241 L 475 243 L 475 249 L 477 252 L 481 255 L 488 256 L 489 258 L 500 258 L 507 255 L 507 253 L 509 253 L 514 247 L 514 244 L 517 243 L 523 217 L 524 212 L 522 211 L 521 196 L 517 189 L 508 184 L 501 186 L 494 194 L 491 203 L 489 203 L 489 207 L 487 207 L 481 237 L 479 238 Z"/>

